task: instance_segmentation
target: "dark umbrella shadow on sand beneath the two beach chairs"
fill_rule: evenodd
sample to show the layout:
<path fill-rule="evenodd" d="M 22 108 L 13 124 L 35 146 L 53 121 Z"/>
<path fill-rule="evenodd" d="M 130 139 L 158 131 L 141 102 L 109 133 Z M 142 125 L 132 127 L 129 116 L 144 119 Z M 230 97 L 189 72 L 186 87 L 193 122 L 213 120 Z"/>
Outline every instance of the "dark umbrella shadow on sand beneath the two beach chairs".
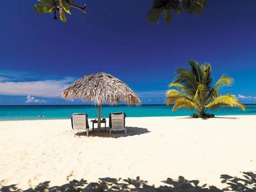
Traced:
<path fill-rule="evenodd" d="M 129 137 L 134 135 L 142 135 L 145 133 L 150 133 L 148 129 L 142 128 L 142 127 L 125 127 L 127 129 L 127 135 L 125 135 L 125 131 L 112 131 L 111 135 L 109 133 L 110 128 L 107 127 L 107 131 L 105 132 L 103 128 L 101 128 L 101 131 L 97 131 L 97 129 L 94 129 L 94 132 L 90 131 L 89 137 L 112 137 L 112 138 L 119 138 L 119 137 Z M 78 133 L 77 136 L 86 137 L 86 133 Z"/>

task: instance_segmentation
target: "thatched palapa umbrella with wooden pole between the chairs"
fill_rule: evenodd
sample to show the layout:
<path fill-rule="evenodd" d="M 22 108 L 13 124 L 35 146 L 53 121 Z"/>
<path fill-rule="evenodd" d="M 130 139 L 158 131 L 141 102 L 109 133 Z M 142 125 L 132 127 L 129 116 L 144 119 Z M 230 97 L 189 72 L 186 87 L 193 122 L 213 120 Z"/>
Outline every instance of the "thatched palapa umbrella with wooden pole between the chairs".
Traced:
<path fill-rule="evenodd" d="M 98 106 L 98 124 L 101 125 L 101 105 L 119 104 L 124 101 L 128 105 L 140 105 L 138 96 L 121 80 L 106 73 L 87 75 L 76 80 L 62 92 L 62 97 L 67 99 L 82 98 L 95 102 Z"/>

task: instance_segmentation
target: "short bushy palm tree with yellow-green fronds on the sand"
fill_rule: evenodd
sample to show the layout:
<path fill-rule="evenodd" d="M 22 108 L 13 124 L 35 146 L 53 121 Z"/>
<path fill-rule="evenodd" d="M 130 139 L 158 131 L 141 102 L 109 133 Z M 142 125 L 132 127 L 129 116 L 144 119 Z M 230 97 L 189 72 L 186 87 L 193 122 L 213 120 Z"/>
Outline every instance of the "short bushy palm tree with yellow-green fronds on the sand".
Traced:
<path fill-rule="evenodd" d="M 214 116 L 206 113 L 209 109 L 224 106 L 239 107 L 245 111 L 245 106 L 234 95 L 221 95 L 219 90 L 223 86 L 233 83 L 233 78 L 222 75 L 212 86 L 211 65 L 199 65 L 196 61 L 188 61 L 191 69 L 176 70 L 177 76 L 168 86 L 172 89 L 166 92 L 166 104 L 174 103 L 172 111 L 179 108 L 194 109 L 197 117 Z"/>

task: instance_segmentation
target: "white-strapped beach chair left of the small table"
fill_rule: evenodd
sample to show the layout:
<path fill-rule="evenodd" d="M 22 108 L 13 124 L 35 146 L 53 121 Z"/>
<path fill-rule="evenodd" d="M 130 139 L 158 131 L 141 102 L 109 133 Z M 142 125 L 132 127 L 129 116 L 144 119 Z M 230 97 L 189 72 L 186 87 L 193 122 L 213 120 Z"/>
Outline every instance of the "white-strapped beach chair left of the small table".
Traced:
<path fill-rule="evenodd" d="M 83 133 L 83 132 L 86 132 L 86 135 L 88 137 L 89 125 L 88 125 L 88 117 L 85 113 L 73 113 L 71 116 L 71 123 L 72 123 L 71 131 L 73 131 L 74 137 L 76 137 L 76 133 Z"/>

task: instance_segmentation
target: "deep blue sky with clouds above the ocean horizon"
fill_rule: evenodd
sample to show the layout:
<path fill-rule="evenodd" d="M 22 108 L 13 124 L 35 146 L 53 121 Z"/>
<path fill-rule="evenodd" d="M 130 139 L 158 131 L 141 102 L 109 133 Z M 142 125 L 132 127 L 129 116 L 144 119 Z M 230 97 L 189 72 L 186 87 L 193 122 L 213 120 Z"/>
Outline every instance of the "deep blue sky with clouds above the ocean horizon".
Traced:
<path fill-rule="evenodd" d="M 11 11 L 0 12 L 0 104 L 85 104 L 60 93 L 100 71 L 126 82 L 143 104 L 163 104 L 175 69 L 190 59 L 211 63 L 215 80 L 235 79 L 223 94 L 256 103 L 255 0 L 209 0 L 201 15 L 174 15 L 171 24 L 147 22 L 152 1 L 87 0 L 88 14 L 73 10 L 67 23 L 34 13 L 35 3 L 1 3 Z"/>

